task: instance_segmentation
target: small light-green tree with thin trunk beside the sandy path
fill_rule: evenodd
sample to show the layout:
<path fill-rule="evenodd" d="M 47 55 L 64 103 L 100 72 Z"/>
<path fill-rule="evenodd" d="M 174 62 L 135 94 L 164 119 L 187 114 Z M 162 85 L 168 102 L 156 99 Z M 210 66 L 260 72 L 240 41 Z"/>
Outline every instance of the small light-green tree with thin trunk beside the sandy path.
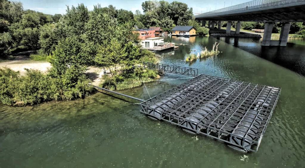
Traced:
<path fill-rule="evenodd" d="M 109 68 L 112 75 L 117 74 L 117 69 L 120 63 L 123 63 L 127 57 L 126 47 L 119 40 L 112 39 L 109 44 L 104 44 L 99 48 L 95 61 Z M 114 71 L 111 70 L 114 67 Z"/>

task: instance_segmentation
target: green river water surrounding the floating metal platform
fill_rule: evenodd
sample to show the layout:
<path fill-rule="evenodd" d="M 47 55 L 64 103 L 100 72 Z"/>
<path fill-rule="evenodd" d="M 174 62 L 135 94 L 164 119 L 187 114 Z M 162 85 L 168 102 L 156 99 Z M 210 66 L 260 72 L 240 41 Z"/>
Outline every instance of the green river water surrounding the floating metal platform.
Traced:
<path fill-rule="evenodd" d="M 303 167 L 305 162 L 305 42 L 261 47 L 246 38 L 167 37 L 180 45 L 161 62 L 199 69 L 199 74 L 281 87 L 281 95 L 257 153 L 242 154 L 224 143 L 194 136 L 139 112 L 124 97 L 47 102 L 26 107 L 0 105 L 0 167 Z M 218 56 L 185 62 L 219 42 Z M 196 50 L 196 51 L 195 51 Z M 166 74 L 162 79 L 183 78 Z M 149 99 L 188 79 L 156 81 L 121 91 Z M 245 158 L 245 159 L 243 159 Z"/>

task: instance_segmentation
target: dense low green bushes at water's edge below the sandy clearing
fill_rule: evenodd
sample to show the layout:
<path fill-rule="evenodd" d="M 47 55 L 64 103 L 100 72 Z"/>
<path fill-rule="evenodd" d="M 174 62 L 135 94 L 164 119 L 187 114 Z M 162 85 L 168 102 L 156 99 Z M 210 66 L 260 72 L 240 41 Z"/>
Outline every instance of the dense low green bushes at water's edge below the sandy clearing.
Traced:
<path fill-rule="evenodd" d="M 28 70 L 21 76 L 9 68 L 0 69 L 0 100 L 5 105 L 39 104 L 50 100 L 72 100 L 88 94 L 92 88 L 84 75 L 69 81 L 67 72 L 54 78 L 38 70 Z"/>

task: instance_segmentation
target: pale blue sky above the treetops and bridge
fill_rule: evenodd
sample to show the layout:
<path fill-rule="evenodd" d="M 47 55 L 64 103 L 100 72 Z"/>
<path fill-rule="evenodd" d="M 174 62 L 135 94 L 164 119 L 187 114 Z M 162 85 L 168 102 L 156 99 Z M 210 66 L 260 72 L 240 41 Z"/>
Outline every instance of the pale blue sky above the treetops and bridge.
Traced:
<path fill-rule="evenodd" d="M 18 1 L 18 0 L 16 0 Z M 101 4 L 102 7 L 113 5 L 116 9 L 125 9 L 135 13 L 136 10 L 142 11 L 141 4 L 145 0 L 19 0 L 23 4 L 24 9 L 31 9 L 45 14 L 65 14 L 66 5 L 77 6 L 84 3 L 89 10 L 93 9 L 93 5 Z M 173 2 L 173 0 L 167 0 Z M 188 7 L 193 8 L 193 13 L 204 13 L 210 10 L 221 9 L 232 5 L 248 2 L 249 0 L 176 0 L 184 2 Z"/>

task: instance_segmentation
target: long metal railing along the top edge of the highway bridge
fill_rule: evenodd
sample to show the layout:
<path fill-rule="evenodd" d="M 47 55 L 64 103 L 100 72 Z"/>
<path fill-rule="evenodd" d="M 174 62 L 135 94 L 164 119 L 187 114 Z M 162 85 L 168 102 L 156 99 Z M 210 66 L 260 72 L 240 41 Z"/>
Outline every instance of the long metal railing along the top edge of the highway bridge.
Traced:
<path fill-rule="evenodd" d="M 275 6 L 288 5 L 288 4 L 296 4 L 300 2 L 305 2 L 305 0 L 254 0 L 238 5 L 214 10 L 211 12 L 202 13 L 196 15 L 195 17 L 197 18 L 197 17 L 209 16 L 209 15 L 224 15 L 228 13 L 242 12 L 253 9 L 262 9 L 262 8 L 275 7 Z"/>

